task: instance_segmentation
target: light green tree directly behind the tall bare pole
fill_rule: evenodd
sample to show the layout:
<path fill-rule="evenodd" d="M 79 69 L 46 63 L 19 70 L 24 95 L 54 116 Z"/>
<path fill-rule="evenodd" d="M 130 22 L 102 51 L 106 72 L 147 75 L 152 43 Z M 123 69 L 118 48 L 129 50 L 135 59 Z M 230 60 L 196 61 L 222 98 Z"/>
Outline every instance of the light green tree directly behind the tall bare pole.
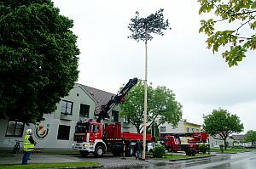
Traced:
<path fill-rule="evenodd" d="M 129 122 L 137 128 L 137 132 L 143 132 L 143 82 L 138 82 L 136 87 L 126 96 L 121 104 L 121 115 L 127 116 Z M 175 100 L 175 94 L 166 87 L 152 87 L 148 85 L 148 127 L 154 122 L 157 126 L 165 122 L 177 126 L 182 117 L 182 105 Z"/>

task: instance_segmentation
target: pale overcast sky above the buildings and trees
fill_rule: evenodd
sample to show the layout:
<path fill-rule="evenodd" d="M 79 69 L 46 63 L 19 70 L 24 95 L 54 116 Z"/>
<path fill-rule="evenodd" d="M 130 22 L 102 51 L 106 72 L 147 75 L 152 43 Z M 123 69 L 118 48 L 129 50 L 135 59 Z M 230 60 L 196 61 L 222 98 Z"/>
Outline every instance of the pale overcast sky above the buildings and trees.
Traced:
<path fill-rule="evenodd" d="M 199 34 L 199 3 L 193 0 L 54 0 L 73 20 L 78 36 L 79 83 L 117 93 L 130 78 L 144 79 L 144 43 L 128 39 L 127 26 L 164 8 L 172 30 L 148 42 L 148 82 L 166 86 L 183 104 L 183 119 L 202 124 L 219 107 L 240 117 L 245 131 L 256 130 L 255 52 L 230 68 L 221 53 L 207 49 Z M 227 25 L 224 25 L 227 26 Z"/>

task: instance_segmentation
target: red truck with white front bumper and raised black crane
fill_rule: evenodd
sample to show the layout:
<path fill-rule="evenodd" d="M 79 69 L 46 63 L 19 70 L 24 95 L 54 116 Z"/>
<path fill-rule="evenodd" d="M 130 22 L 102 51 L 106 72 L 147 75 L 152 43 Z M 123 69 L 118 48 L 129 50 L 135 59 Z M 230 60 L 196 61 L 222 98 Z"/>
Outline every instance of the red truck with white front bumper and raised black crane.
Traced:
<path fill-rule="evenodd" d="M 93 154 L 96 157 L 102 157 L 105 152 L 111 151 L 113 155 L 133 155 L 133 145 L 138 139 L 143 140 L 141 133 L 121 132 L 121 124 L 104 124 L 104 119 L 108 118 L 108 111 L 116 104 L 124 102 L 126 93 L 137 84 L 137 78 L 130 79 L 121 92 L 108 104 L 102 106 L 96 121 L 79 121 L 77 123 L 74 138 L 73 149 L 79 150 L 82 156 Z M 102 125 L 103 124 L 103 125 Z M 146 135 L 146 141 L 151 140 L 150 134 Z M 126 146 L 125 146 L 126 145 Z M 129 145 L 129 146 L 128 146 Z"/>

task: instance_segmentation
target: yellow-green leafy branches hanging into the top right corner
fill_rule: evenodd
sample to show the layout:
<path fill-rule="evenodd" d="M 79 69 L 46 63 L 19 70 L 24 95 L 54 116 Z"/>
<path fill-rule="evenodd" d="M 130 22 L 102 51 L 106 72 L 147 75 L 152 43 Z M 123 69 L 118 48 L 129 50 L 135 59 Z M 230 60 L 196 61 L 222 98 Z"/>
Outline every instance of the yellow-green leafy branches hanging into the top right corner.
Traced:
<path fill-rule="evenodd" d="M 214 12 L 216 19 L 201 20 L 200 32 L 207 34 L 207 48 L 213 54 L 220 46 L 228 46 L 229 50 L 222 57 L 229 66 L 237 65 L 248 50 L 256 48 L 256 2 L 254 0 L 224 1 L 199 0 L 199 14 Z M 222 27 L 218 24 L 229 26 Z M 223 29 L 222 29 L 223 28 Z"/>

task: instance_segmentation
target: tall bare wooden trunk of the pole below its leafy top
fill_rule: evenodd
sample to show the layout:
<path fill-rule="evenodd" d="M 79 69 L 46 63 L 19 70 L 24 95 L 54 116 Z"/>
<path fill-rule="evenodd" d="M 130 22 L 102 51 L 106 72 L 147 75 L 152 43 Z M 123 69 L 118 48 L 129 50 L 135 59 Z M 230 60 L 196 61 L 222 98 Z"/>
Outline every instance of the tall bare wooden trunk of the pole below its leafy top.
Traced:
<path fill-rule="evenodd" d="M 143 160 L 146 160 L 146 134 L 147 134 L 147 96 L 148 96 L 148 46 L 145 41 L 145 95 L 144 95 L 144 121 L 143 121 Z"/>

